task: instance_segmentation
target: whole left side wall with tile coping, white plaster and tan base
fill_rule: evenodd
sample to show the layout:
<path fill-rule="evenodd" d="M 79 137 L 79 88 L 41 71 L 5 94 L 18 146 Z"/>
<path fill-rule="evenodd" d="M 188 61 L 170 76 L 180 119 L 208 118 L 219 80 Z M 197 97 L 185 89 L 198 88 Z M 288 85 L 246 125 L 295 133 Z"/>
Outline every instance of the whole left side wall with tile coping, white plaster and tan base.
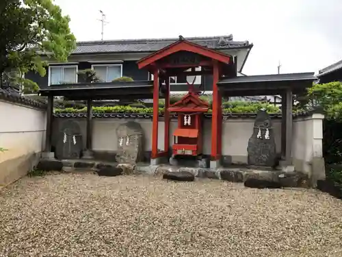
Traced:
<path fill-rule="evenodd" d="M 0 95 L 0 188 L 31 170 L 45 138 L 44 106 L 31 99 Z"/>

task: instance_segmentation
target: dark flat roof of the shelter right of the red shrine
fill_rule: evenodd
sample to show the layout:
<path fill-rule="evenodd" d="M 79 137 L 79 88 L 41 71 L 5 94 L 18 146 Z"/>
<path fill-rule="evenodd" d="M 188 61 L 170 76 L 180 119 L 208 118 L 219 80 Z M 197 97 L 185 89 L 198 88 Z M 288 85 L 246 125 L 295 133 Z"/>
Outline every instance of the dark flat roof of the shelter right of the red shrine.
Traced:
<path fill-rule="evenodd" d="M 306 88 L 313 86 L 316 79 L 314 73 L 238 76 L 221 79 L 218 87 L 231 97 L 279 95 L 286 88 L 291 88 L 293 93 L 302 93 Z"/>

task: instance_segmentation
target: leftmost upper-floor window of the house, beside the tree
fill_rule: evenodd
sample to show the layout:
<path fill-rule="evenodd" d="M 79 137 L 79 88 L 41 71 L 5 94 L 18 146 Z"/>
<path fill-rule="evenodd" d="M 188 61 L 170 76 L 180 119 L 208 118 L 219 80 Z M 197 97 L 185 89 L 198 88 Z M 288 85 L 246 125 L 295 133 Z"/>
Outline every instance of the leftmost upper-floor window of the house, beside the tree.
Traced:
<path fill-rule="evenodd" d="M 49 86 L 77 83 L 77 65 L 49 66 Z"/>

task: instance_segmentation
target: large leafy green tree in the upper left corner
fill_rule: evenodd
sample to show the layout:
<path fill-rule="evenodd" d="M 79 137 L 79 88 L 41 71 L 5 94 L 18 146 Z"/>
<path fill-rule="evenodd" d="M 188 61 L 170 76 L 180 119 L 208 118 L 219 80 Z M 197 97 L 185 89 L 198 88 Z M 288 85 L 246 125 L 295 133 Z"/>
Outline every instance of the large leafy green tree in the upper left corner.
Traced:
<path fill-rule="evenodd" d="M 12 75 L 17 83 L 30 90 L 38 85 L 22 74 L 35 71 L 44 76 L 49 58 L 66 61 L 75 49 L 75 36 L 70 32 L 70 19 L 51 0 L 2 0 L 0 3 L 0 81 L 3 73 Z"/>

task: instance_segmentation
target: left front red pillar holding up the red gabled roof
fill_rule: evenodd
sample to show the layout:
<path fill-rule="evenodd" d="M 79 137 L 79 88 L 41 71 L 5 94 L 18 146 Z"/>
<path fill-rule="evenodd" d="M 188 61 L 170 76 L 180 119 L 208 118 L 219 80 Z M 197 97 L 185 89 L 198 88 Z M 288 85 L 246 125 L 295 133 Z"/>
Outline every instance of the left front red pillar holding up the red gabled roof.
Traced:
<path fill-rule="evenodd" d="M 153 73 L 153 121 L 152 121 L 152 152 L 151 158 L 158 157 L 158 116 L 159 116 L 159 72 Z"/>

